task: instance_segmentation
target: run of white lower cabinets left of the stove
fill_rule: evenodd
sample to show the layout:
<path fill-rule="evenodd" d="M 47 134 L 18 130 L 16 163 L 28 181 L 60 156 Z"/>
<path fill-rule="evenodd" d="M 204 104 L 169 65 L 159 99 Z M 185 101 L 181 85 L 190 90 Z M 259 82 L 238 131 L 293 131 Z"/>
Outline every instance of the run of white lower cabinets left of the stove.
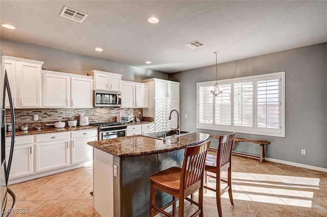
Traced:
<path fill-rule="evenodd" d="M 92 160 L 93 148 L 87 142 L 97 139 L 97 129 L 16 136 L 9 179 L 25 177 L 28 180 L 27 176 L 42 172 L 71 168 L 68 166 L 76 168 Z M 7 163 L 10 145 L 11 137 L 7 137 Z"/>

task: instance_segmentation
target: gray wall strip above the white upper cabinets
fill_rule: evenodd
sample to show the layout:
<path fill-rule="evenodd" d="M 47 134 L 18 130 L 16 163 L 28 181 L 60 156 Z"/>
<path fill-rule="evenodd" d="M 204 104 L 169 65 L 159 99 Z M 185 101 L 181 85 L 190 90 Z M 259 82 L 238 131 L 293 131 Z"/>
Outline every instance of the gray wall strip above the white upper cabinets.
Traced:
<path fill-rule="evenodd" d="M 168 78 L 166 73 L 159 73 L 158 71 L 3 39 L 1 40 L 1 55 L 43 61 L 43 69 L 61 71 L 62 73 L 87 75 L 87 71 L 95 69 L 122 74 L 122 80 L 125 81 L 141 82 L 143 79 L 149 78 Z"/>

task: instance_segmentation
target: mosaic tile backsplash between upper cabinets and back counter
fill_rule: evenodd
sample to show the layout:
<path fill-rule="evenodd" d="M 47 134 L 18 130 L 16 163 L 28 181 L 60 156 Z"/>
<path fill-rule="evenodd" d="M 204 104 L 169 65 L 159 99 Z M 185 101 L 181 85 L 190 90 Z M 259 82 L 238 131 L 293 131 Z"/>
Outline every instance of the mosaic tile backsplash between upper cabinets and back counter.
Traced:
<path fill-rule="evenodd" d="M 141 112 L 141 115 L 138 115 Z M 153 117 L 143 117 L 142 108 L 56 108 L 56 109 L 15 109 L 16 129 L 24 123 L 38 126 L 43 123 L 55 123 L 59 120 L 66 122 L 68 119 L 79 120 L 81 113 L 88 116 L 89 123 L 115 122 L 116 116 L 133 116 L 143 119 L 152 120 Z M 34 121 L 33 115 L 38 114 L 39 120 Z M 145 120 L 146 121 L 146 120 Z M 11 123 L 10 111 L 6 110 L 6 123 Z"/>

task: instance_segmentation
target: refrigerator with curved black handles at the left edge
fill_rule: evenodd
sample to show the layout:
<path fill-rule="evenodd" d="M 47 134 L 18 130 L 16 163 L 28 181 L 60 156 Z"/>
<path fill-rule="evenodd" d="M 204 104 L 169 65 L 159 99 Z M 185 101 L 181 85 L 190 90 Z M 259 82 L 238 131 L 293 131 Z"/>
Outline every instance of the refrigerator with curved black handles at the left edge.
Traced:
<path fill-rule="evenodd" d="M 1 69 L 0 69 L 0 72 Z M 9 81 L 7 77 L 7 71 L 5 71 L 5 75 L 2 76 L 0 74 L 0 78 L 4 78 L 4 85 L 0 86 L 0 102 L 2 103 L 2 107 L 0 108 L 0 125 L 1 125 L 1 174 L 0 174 L 0 205 L 1 205 L 1 216 L 11 216 L 14 213 L 15 205 L 16 205 L 16 196 L 14 192 L 8 187 L 8 179 L 10 174 L 11 161 L 14 151 L 14 141 L 15 141 L 15 114 L 12 103 L 12 97 L 9 87 Z M 7 94 L 6 94 L 7 93 Z M 11 115 L 11 124 L 12 124 L 12 132 L 11 132 L 11 144 L 9 154 L 7 152 L 6 156 L 6 109 L 5 109 L 5 100 L 6 95 L 8 96 L 9 104 L 10 104 L 10 115 Z M 7 150 L 8 151 L 8 150 Z M 7 198 L 12 197 L 12 205 L 7 204 Z"/>

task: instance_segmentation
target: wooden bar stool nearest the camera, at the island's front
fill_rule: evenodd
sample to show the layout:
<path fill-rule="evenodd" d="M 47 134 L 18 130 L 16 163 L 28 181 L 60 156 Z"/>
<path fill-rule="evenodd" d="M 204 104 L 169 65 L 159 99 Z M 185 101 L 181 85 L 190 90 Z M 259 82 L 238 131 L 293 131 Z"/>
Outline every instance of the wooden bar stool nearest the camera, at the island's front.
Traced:
<path fill-rule="evenodd" d="M 198 206 L 198 210 L 192 215 L 203 216 L 203 175 L 205 158 L 211 140 L 185 148 L 182 168 L 171 167 L 150 176 L 150 217 L 159 212 L 166 216 L 174 217 L 176 213 L 176 198 L 179 199 L 179 217 L 184 216 L 184 199 Z M 155 205 L 155 190 L 164 191 L 173 196 L 173 200 L 164 207 Z M 199 189 L 198 203 L 188 198 L 194 191 Z M 173 205 L 173 214 L 165 211 Z M 155 211 L 157 210 L 157 211 Z"/>

